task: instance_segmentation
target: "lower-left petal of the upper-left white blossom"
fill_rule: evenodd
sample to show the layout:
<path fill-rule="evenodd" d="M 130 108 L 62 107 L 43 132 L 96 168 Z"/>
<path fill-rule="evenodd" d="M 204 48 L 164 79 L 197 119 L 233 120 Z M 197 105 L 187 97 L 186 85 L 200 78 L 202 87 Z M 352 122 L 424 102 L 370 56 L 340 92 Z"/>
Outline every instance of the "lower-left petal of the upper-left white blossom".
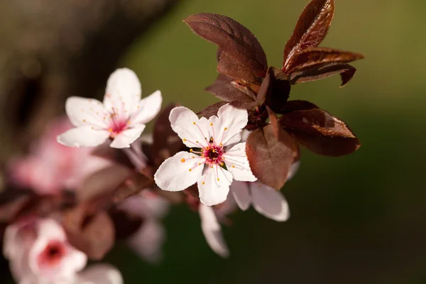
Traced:
<path fill-rule="evenodd" d="M 58 142 L 69 147 L 94 147 L 107 140 L 109 131 L 94 130 L 91 126 L 70 129 L 58 136 Z"/>

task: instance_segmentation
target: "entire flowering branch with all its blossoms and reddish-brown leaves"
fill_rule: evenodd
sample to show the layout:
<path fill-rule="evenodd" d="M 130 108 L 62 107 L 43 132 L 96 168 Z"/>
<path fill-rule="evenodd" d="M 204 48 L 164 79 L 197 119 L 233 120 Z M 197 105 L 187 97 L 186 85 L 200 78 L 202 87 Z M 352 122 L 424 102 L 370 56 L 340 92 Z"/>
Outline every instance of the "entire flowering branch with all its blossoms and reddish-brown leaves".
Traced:
<path fill-rule="evenodd" d="M 126 68 L 111 74 L 103 102 L 70 97 L 67 119 L 47 127 L 30 154 L 9 163 L 0 203 L 4 256 L 19 283 L 123 283 L 115 268 L 95 264 L 123 240 L 158 262 L 171 204 L 200 214 L 207 244 L 229 256 L 221 224 L 252 206 L 277 222 L 289 216 L 280 192 L 300 165 L 300 146 L 345 155 L 359 141 L 340 119 L 306 101 L 288 101 L 300 82 L 355 74 L 362 55 L 318 45 L 334 1 L 312 0 L 284 50 L 268 67 L 256 37 L 226 16 L 200 13 L 185 22 L 218 45 L 219 77 L 207 87 L 223 102 L 200 113 L 170 105 L 159 91 L 141 97 Z M 308 24 L 309 23 L 309 24 Z M 157 117 L 153 133 L 143 133 Z M 58 143 L 59 142 L 59 143 Z"/>

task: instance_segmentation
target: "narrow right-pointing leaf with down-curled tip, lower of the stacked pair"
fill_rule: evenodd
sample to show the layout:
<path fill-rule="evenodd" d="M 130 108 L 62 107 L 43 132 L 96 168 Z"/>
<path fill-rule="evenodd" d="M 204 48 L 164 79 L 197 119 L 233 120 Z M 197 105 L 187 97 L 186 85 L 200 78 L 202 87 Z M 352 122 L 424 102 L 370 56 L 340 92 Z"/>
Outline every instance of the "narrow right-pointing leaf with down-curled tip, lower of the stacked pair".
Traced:
<path fill-rule="evenodd" d="M 299 84 L 304 82 L 311 82 L 340 74 L 340 76 L 342 77 L 342 84 L 340 85 L 340 87 L 344 87 L 352 80 L 355 73 L 355 67 L 349 64 L 331 63 L 318 67 L 312 67 L 309 70 L 295 72 L 291 75 L 291 83 Z"/>

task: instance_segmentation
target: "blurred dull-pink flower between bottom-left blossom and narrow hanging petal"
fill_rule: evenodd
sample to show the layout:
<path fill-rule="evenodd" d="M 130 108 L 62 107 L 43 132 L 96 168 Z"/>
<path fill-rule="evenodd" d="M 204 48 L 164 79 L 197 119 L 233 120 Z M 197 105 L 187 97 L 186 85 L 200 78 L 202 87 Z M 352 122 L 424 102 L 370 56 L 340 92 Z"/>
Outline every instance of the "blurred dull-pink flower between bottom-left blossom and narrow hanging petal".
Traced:
<path fill-rule="evenodd" d="M 143 190 L 120 204 L 120 209 L 143 219 L 138 231 L 127 239 L 127 244 L 150 263 L 158 263 L 163 258 L 165 229 L 160 220 L 168 213 L 169 207 L 167 200 L 150 190 Z"/>

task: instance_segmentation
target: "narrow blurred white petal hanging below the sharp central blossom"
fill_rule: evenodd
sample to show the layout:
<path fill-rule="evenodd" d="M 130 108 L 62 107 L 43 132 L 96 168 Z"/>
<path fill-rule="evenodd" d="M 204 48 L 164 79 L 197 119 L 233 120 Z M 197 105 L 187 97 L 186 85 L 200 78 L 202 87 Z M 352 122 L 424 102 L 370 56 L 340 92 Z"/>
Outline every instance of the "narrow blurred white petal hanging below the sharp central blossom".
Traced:
<path fill-rule="evenodd" d="M 219 222 L 217 222 L 214 209 L 200 204 L 198 211 L 200 212 L 202 233 L 206 238 L 207 244 L 219 256 L 227 258 L 229 256 L 229 249 L 224 240 L 222 228 Z"/>

